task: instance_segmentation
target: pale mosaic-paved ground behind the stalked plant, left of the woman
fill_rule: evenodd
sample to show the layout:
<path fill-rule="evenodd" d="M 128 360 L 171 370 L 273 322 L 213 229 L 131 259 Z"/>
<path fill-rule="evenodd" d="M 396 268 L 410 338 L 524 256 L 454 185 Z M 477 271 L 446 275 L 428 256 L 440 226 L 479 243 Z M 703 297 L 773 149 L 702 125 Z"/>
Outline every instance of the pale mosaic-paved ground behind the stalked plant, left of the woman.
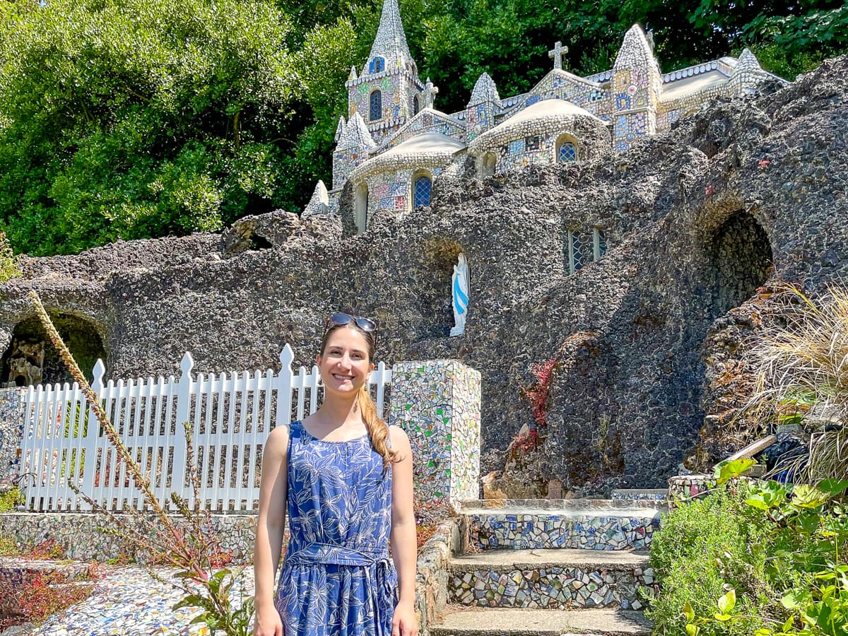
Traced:
<path fill-rule="evenodd" d="M 172 571 L 157 571 L 169 580 Z M 253 569 L 243 574 L 243 590 L 236 590 L 234 605 L 241 605 L 254 593 Z M 234 586 L 237 587 L 237 586 Z M 98 582 L 94 594 L 72 605 L 68 610 L 51 616 L 32 634 L 37 636 L 176 636 L 177 634 L 209 634 L 204 625 L 189 625 L 198 609 L 171 608 L 181 599 L 181 591 L 156 581 L 141 567 L 121 567 L 111 570 Z"/>

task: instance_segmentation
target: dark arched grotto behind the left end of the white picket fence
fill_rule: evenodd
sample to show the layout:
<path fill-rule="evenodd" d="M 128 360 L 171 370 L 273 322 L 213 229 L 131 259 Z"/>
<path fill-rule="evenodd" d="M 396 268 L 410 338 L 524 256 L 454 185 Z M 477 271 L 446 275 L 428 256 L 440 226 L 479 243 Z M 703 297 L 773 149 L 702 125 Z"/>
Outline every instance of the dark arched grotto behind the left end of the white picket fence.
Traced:
<path fill-rule="evenodd" d="M 91 321 L 77 315 L 57 313 L 50 316 L 53 325 L 70 349 L 77 365 L 91 382 L 92 369 L 98 358 L 106 360 L 103 338 Z M 36 316 L 20 321 L 12 332 L 12 343 L 0 363 L 0 386 L 29 386 L 73 382 L 59 352 L 47 338 Z"/>

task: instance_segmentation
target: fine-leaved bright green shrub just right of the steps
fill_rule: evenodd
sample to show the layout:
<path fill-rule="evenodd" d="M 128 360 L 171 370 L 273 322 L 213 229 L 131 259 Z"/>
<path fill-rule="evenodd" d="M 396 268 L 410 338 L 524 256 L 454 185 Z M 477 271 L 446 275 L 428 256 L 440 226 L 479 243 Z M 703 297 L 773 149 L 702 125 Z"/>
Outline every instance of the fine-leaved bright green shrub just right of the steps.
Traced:
<path fill-rule="evenodd" d="M 655 633 L 685 634 L 686 604 L 696 616 L 711 616 L 728 586 L 736 590 L 739 614 L 759 616 L 772 604 L 766 572 L 767 516 L 745 505 L 743 495 L 721 488 L 663 518 L 650 554 L 661 585 L 646 612 L 655 623 Z M 747 636 L 763 625 L 752 617 L 732 625 L 704 626 L 700 634 Z"/>

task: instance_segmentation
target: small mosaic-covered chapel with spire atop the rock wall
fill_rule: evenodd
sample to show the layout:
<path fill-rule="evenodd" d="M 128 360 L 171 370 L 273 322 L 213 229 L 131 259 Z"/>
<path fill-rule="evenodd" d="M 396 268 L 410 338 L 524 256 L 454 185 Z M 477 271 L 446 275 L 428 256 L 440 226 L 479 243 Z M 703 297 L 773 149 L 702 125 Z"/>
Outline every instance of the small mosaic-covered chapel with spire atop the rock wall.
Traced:
<path fill-rule="evenodd" d="M 398 0 L 385 0 L 371 53 L 351 68 L 348 118 L 336 131 L 332 189 L 315 186 L 304 215 L 338 212 L 350 181 L 357 232 L 377 210 L 403 215 L 430 203 L 432 182 L 456 157 L 469 154 L 482 177 L 532 164 L 594 159 L 622 153 L 637 137 L 667 131 L 681 116 L 722 96 L 756 92 L 762 70 L 745 49 L 663 74 L 650 36 L 639 25 L 624 36 L 611 70 L 580 77 L 562 68 L 567 47 L 550 51 L 554 68 L 522 95 L 500 98 L 487 73 L 465 110 L 435 108 L 438 88 L 421 81 L 406 43 Z"/>

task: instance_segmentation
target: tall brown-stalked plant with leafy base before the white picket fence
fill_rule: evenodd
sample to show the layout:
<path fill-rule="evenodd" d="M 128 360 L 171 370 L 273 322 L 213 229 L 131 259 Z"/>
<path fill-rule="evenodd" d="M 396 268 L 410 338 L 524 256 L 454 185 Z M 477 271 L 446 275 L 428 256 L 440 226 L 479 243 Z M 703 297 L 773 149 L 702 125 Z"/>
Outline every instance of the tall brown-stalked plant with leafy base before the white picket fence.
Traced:
<path fill-rule="evenodd" d="M 183 590 L 184 598 L 175 605 L 180 607 L 199 607 L 203 611 L 192 622 L 204 622 L 210 633 L 224 633 L 226 636 L 248 636 L 250 622 L 254 613 L 253 598 L 242 594 L 243 603 L 236 608 L 230 600 L 231 592 L 241 577 L 242 570 L 218 569 L 232 561 L 232 555 L 221 547 L 220 537 L 212 527 L 209 510 L 204 510 L 200 502 L 200 476 L 194 461 L 192 448 L 192 428 L 188 422 L 182 426 L 187 442 L 187 468 L 192 484 L 193 501 L 188 502 L 179 494 L 171 493 L 170 500 L 177 510 L 176 519 L 171 518 L 159 503 L 153 493 L 150 480 L 137 464 L 129 449 L 121 441 L 109 417 L 103 410 L 97 393 L 94 393 L 87 382 L 79 365 L 76 364 L 70 350 L 65 346 L 59 332 L 47 315 L 47 310 L 35 291 L 30 298 L 36 308 L 36 313 L 42 321 L 47 337 L 59 352 L 59 357 L 70 371 L 70 375 L 79 385 L 86 401 L 97 418 L 103 433 L 109 439 L 109 444 L 117 452 L 117 463 L 126 466 L 126 474 L 131 477 L 144 502 L 153 516 L 130 507 L 126 509 L 129 518 L 115 515 L 106 510 L 86 493 L 82 493 L 75 484 L 69 483 L 70 488 L 92 506 L 99 514 L 106 516 L 109 525 L 103 526 L 103 532 L 114 534 L 129 544 L 133 550 L 146 556 L 149 563 L 159 566 L 175 567 L 176 580 L 165 581 L 155 572 L 151 575 L 162 583 L 174 585 Z"/>

